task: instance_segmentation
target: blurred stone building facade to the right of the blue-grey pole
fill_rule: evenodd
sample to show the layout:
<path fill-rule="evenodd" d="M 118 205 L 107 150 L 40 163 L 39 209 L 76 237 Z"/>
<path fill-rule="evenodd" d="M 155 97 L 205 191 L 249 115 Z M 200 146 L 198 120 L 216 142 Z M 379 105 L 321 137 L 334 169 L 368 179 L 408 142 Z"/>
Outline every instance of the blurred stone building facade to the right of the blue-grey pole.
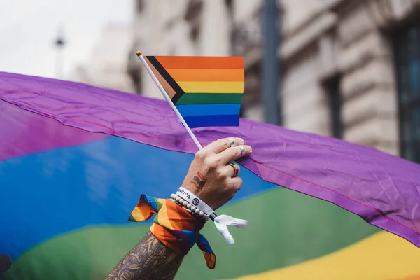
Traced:
<path fill-rule="evenodd" d="M 311 1 L 288 22 L 303 2 L 283 1 L 283 125 L 419 162 L 419 1 Z"/>

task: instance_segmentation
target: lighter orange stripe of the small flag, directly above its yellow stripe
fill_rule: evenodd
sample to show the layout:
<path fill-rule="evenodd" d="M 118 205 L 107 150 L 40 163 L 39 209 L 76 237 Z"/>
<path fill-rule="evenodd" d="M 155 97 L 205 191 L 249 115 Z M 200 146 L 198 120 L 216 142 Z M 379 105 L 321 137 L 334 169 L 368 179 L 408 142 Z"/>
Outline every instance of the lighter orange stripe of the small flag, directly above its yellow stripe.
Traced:
<path fill-rule="evenodd" d="M 243 82 L 242 69 L 167 69 L 176 82 Z"/>

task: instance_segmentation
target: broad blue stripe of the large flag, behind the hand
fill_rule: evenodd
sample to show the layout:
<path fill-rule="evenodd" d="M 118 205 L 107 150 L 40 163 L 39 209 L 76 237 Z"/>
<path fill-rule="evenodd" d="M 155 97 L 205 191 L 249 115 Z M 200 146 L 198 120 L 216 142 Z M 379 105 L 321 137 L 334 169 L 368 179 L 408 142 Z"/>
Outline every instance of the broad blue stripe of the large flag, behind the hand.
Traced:
<path fill-rule="evenodd" d="M 0 161 L 0 252 L 15 260 L 72 230 L 137 226 L 127 218 L 140 195 L 169 197 L 193 158 L 109 137 Z M 244 185 L 232 202 L 275 187 L 246 168 L 241 169 L 241 178 Z"/>

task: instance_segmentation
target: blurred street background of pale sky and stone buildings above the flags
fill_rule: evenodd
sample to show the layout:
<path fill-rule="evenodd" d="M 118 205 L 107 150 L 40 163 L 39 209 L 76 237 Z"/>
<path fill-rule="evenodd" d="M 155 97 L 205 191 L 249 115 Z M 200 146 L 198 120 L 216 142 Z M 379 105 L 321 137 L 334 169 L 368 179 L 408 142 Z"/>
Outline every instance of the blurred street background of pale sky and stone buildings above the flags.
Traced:
<path fill-rule="evenodd" d="M 0 4 L 0 71 L 161 98 L 135 56 L 244 56 L 241 115 L 420 162 L 420 1 Z"/>

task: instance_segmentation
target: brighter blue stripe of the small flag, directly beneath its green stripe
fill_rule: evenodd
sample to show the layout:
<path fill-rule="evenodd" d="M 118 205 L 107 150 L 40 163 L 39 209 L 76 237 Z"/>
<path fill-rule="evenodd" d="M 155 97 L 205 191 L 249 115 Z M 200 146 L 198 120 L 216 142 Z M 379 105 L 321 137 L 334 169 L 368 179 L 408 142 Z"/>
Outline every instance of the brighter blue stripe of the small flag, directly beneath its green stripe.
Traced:
<path fill-rule="evenodd" d="M 241 111 L 241 104 L 184 104 L 176 106 L 179 113 L 185 117 L 237 115 Z"/>

